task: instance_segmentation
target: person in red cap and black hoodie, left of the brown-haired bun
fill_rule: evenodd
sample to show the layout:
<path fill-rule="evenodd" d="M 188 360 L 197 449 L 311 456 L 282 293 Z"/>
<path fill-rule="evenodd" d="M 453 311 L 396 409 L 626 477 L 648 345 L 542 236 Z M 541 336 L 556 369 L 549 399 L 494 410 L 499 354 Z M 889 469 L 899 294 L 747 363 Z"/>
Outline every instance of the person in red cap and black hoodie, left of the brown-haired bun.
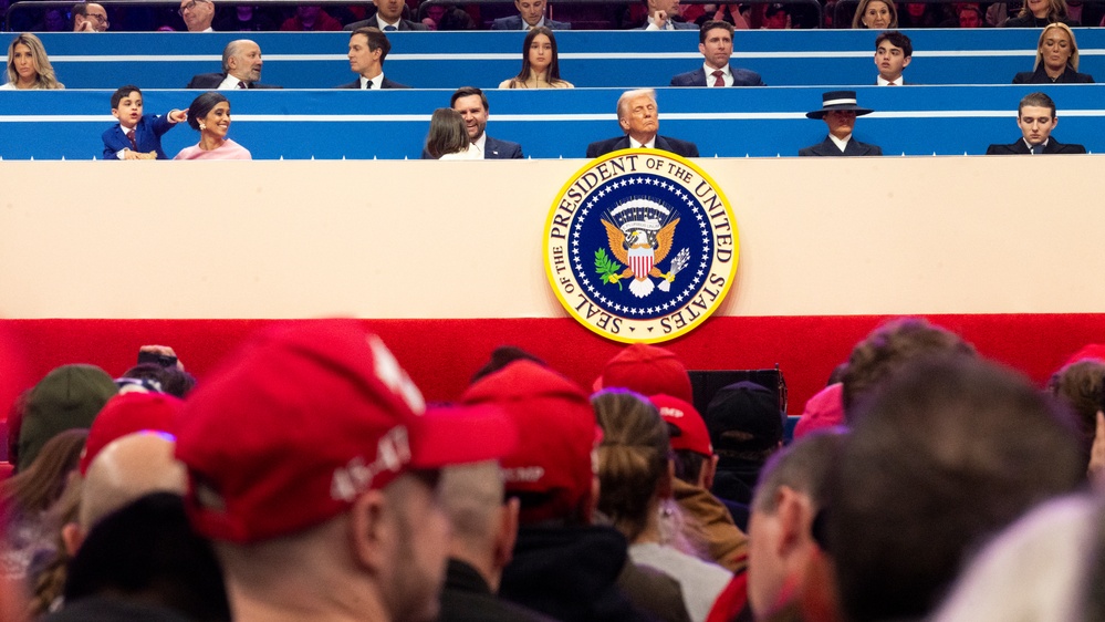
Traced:
<path fill-rule="evenodd" d="M 600 431 L 586 394 L 548 367 L 518 360 L 472 383 L 462 402 L 501 407 L 519 433 L 517 450 L 501 460 L 507 495 L 521 508 L 500 597 L 565 622 L 646 619 L 618 589 L 625 538 L 592 525 Z"/>

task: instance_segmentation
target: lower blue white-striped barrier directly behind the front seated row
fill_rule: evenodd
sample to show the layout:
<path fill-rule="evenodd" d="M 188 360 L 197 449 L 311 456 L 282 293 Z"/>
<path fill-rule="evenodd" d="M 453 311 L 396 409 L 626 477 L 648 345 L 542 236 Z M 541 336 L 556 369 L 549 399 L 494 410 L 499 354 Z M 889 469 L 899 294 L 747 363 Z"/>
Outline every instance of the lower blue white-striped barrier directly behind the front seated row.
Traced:
<path fill-rule="evenodd" d="M 1059 141 L 1105 152 L 1102 89 L 1045 90 L 1059 105 Z M 1012 143 L 1020 136 L 1017 103 L 1033 90 L 859 87 L 861 104 L 878 112 L 858 121 L 856 137 L 880 145 L 886 154 L 982 154 L 990 143 Z M 417 158 L 431 112 L 448 105 L 450 93 L 230 91 L 230 136 L 263 159 Z M 621 89 L 493 91 L 488 94 L 488 133 L 521 143 L 532 157 L 583 157 L 587 143 L 621 134 L 614 114 L 621 93 Z M 821 107 L 821 94 L 820 87 L 660 89 L 660 133 L 694 141 L 705 157 L 795 155 L 825 137 L 824 123 L 804 116 Z M 146 112 L 186 107 L 196 95 L 150 90 L 145 93 Z M 0 91 L 0 157 L 100 157 L 100 136 L 115 122 L 110 97 L 110 91 Z M 171 156 L 197 141 L 197 133 L 180 124 L 163 144 Z"/>

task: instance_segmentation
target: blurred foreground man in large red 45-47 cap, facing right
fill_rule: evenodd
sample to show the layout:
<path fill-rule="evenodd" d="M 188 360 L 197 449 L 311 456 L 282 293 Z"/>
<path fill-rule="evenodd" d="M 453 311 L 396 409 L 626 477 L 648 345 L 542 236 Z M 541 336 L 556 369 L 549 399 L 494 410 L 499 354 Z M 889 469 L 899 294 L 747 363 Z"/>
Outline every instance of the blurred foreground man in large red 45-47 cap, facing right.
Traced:
<path fill-rule="evenodd" d="M 449 546 L 440 469 L 513 450 L 509 425 L 496 410 L 427 411 L 355 320 L 256 335 L 177 428 L 185 505 L 215 543 L 234 619 L 435 620 Z"/>

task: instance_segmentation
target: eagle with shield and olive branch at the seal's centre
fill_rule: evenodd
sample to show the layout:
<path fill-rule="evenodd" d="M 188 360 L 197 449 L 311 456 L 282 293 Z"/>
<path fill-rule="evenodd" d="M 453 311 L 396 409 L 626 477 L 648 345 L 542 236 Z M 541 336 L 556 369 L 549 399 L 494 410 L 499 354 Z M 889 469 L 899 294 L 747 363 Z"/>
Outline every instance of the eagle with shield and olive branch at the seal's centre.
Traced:
<path fill-rule="evenodd" d="M 634 198 L 625 201 L 603 215 L 603 226 L 606 227 L 606 239 L 614 258 L 626 266 L 621 266 L 606 257 L 605 249 L 596 253 L 596 267 L 605 283 L 618 283 L 622 279 L 629 281 L 629 291 L 637 298 L 653 293 L 656 284 L 653 278 L 660 279 L 660 291 L 669 291 L 671 281 L 679 270 L 686 266 L 689 251 L 682 249 L 671 260 L 667 272 L 658 265 L 671 252 L 676 226 L 679 225 L 679 214 L 651 199 Z M 618 284 L 621 289 L 621 284 Z"/>

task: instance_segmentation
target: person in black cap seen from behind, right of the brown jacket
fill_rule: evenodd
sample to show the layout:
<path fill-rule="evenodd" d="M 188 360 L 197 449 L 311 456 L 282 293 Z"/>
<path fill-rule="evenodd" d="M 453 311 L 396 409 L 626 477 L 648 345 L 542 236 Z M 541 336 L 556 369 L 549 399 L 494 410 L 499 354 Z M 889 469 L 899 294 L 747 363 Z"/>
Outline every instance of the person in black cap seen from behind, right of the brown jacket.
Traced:
<path fill-rule="evenodd" d="M 713 494 L 749 505 L 760 469 L 783 445 L 779 394 L 754 382 L 737 382 L 713 395 L 702 418 L 718 454 Z"/>

